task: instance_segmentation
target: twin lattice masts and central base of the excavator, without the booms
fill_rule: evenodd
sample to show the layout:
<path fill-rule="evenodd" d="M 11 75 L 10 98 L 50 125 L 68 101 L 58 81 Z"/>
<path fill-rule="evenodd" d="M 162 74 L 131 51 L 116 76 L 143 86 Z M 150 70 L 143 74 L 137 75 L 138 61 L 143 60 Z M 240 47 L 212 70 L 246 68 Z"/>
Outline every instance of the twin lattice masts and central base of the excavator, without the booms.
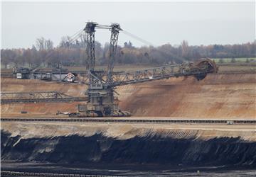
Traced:
<path fill-rule="evenodd" d="M 107 66 L 107 73 L 95 69 L 95 28 L 111 31 L 110 59 Z M 88 22 L 85 26 L 87 38 L 87 74 L 89 77 L 89 86 L 87 89 L 89 101 L 86 105 L 87 113 L 97 114 L 99 116 L 129 115 L 129 113 L 119 110 L 118 105 L 114 103 L 114 87 L 111 85 L 113 82 L 112 72 L 119 30 L 122 29 L 117 23 L 99 25 L 94 22 Z"/>

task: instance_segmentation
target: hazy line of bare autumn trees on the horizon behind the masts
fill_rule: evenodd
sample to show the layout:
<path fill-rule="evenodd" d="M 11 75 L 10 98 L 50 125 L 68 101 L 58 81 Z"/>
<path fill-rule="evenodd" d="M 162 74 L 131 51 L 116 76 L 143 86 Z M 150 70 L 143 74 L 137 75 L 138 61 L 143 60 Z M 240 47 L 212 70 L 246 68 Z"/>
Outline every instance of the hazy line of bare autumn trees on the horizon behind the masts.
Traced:
<path fill-rule="evenodd" d="M 71 40 L 66 36 L 60 40 L 58 47 L 53 41 L 38 38 L 36 44 L 28 49 L 1 49 L 1 64 L 16 64 L 16 67 L 49 67 L 54 64 L 63 66 L 85 66 L 86 50 L 85 38 Z M 110 52 L 109 43 L 102 45 L 95 42 L 95 57 L 99 65 L 108 62 Z M 210 58 L 239 58 L 256 57 L 256 41 L 235 45 L 188 45 L 183 40 L 180 45 L 165 44 L 159 47 L 134 47 L 132 42 L 124 42 L 117 46 L 116 64 L 180 64 L 202 57 Z"/>

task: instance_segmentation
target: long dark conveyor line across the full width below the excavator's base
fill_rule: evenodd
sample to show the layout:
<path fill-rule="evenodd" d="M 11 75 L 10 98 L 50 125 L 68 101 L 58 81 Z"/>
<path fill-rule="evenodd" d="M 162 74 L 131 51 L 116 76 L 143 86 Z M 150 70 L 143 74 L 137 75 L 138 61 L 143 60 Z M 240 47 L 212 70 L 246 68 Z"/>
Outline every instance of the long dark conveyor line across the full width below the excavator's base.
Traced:
<path fill-rule="evenodd" d="M 131 118 L 1 118 L 3 122 L 119 122 L 177 124 L 255 124 L 256 120 L 131 119 Z"/>

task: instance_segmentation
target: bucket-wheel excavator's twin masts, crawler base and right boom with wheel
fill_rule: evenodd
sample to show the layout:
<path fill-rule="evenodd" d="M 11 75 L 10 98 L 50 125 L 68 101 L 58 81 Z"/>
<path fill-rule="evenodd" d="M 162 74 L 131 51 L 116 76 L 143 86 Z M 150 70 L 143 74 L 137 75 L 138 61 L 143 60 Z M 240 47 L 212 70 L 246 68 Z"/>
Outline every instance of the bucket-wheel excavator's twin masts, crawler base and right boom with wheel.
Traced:
<path fill-rule="evenodd" d="M 95 69 L 95 29 L 107 29 L 111 31 L 110 59 L 107 71 Z M 87 52 L 87 104 L 78 105 L 78 113 L 71 113 L 70 117 L 122 117 L 130 116 L 127 111 L 120 110 L 118 103 L 114 101 L 114 89 L 116 86 L 136 84 L 144 81 L 168 79 L 173 76 L 196 76 L 198 80 L 204 79 L 206 74 L 217 72 L 215 62 L 210 59 L 201 59 L 195 64 L 164 65 L 135 72 L 113 72 L 114 58 L 117 50 L 120 25 L 99 25 L 88 22 L 84 29 L 86 33 Z"/>

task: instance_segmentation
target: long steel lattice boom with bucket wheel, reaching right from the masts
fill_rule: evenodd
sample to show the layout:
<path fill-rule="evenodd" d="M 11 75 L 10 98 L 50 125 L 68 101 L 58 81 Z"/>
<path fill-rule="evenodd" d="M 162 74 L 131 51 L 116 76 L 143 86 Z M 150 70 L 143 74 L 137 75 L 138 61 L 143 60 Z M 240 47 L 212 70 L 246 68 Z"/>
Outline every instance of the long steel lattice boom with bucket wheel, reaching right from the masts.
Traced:
<path fill-rule="evenodd" d="M 145 81 L 155 81 L 159 79 L 168 79 L 178 76 L 195 76 L 196 79 L 202 80 L 209 73 L 218 72 L 215 62 L 206 58 L 198 59 L 195 63 L 183 64 L 166 64 L 162 67 L 141 69 L 132 72 L 112 72 L 112 82 L 106 82 L 108 86 L 123 86 L 128 84 L 137 84 Z M 107 76 L 103 74 L 103 79 Z M 85 79 L 88 81 L 88 79 Z M 86 84 L 89 84 L 88 82 Z"/>

